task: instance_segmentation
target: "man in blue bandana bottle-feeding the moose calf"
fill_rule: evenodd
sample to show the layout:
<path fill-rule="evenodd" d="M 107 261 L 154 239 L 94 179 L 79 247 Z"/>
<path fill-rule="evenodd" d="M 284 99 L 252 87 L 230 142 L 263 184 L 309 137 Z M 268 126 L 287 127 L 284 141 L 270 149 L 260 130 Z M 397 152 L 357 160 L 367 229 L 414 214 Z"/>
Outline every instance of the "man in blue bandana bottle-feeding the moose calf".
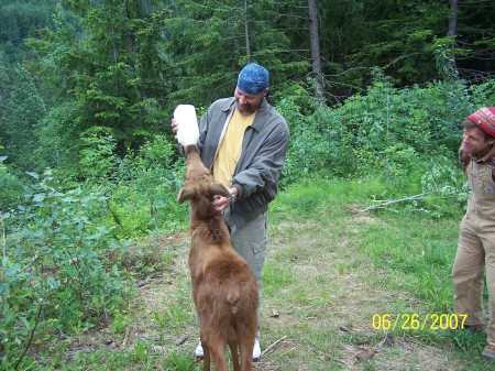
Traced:
<path fill-rule="evenodd" d="M 230 197 L 213 197 L 213 206 L 229 227 L 232 245 L 262 287 L 266 253 L 268 203 L 277 195 L 289 132 L 285 119 L 266 101 L 270 74 L 251 63 L 239 74 L 234 96 L 215 101 L 199 121 L 199 150 L 213 179 Z M 172 120 L 177 132 L 177 122 Z M 260 307 L 257 308 L 260 318 Z M 201 343 L 195 354 L 202 357 Z M 253 359 L 261 356 L 260 331 Z"/>

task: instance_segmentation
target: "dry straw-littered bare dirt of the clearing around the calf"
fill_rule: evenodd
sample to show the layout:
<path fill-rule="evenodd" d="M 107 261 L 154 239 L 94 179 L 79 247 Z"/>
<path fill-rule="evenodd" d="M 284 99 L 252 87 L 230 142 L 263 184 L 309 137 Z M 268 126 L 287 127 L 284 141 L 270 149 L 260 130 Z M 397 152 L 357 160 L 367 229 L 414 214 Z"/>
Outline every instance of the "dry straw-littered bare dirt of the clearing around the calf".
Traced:
<path fill-rule="evenodd" d="M 363 220 L 362 222 L 370 222 Z M 365 262 L 356 269 L 343 266 L 349 261 L 350 247 L 340 240 L 334 249 L 322 251 L 312 258 L 292 258 L 285 253 L 287 245 L 297 245 L 294 239 L 307 245 L 321 244 L 308 236 L 288 237 L 285 228 L 275 233 L 270 242 L 267 261 L 286 259 L 290 263 L 296 282 L 277 295 L 264 296 L 261 317 L 262 358 L 254 363 L 255 370 L 460 370 L 463 369 L 452 352 L 428 346 L 414 336 L 394 335 L 372 327 L 374 314 L 386 314 L 391 301 L 402 299 L 410 308 L 422 303 L 399 293 L 382 291 L 366 280 Z M 327 239 L 324 236 L 322 239 Z M 290 243 L 287 243 L 292 240 Z M 172 350 L 193 356 L 198 342 L 198 329 L 194 320 L 169 321 L 158 326 L 157 314 L 173 318 L 174 310 L 186 308 L 194 318 L 187 268 L 188 237 L 162 238 L 161 249 L 174 251 L 173 264 L 165 272 L 156 272 L 138 283 L 139 296 L 133 299 L 131 320 L 121 332 L 102 328 L 73 338 L 68 357 L 79 352 L 90 353 L 97 349 L 110 351 L 132 350 L 140 340 L 154 343 L 152 352 L 166 357 Z M 343 250 L 341 250 L 343 249 Z M 342 253 L 346 251 L 346 253 Z M 280 258 L 284 257 L 284 258 Z M 284 262 L 279 262 L 284 264 Z M 314 288 L 311 282 L 328 284 L 328 293 Z M 305 301 L 290 299 L 290 291 L 304 290 Z M 308 294 L 309 293 L 309 294 Z M 328 295 L 328 296 L 324 296 Z M 324 296 L 324 299 L 321 297 Z M 174 309 L 176 308 L 176 309 Z M 177 309 L 178 310 L 178 309 Z M 183 313 L 184 315 L 184 313 Z M 392 315 L 392 314 L 391 314 Z M 180 316 L 180 313 L 177 313 Z M 195 369 L 200 370 L 200 363 Z M 464 368 L 465 369 L 465 368 Z"/>

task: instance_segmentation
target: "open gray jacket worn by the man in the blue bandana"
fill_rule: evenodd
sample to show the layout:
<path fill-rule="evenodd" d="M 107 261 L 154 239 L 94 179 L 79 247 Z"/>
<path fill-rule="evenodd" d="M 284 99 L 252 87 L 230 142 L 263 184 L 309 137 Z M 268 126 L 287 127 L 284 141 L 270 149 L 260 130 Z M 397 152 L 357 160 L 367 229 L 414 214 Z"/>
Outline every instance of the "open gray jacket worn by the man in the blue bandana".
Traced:
<path fill-rule="evenodd" d="M 221 140 L 235 107 L 235 98 L 215 101 L 199 121 L 199 149 L 212 170 Z M 285 119 L 263 98 L 253 123 L 244 132 L 241 155 L 232 178 L 239 196 L 231 205 L 233 222 L 241 227 L 268 208 L 278 190 L 289 140 Z"/>

